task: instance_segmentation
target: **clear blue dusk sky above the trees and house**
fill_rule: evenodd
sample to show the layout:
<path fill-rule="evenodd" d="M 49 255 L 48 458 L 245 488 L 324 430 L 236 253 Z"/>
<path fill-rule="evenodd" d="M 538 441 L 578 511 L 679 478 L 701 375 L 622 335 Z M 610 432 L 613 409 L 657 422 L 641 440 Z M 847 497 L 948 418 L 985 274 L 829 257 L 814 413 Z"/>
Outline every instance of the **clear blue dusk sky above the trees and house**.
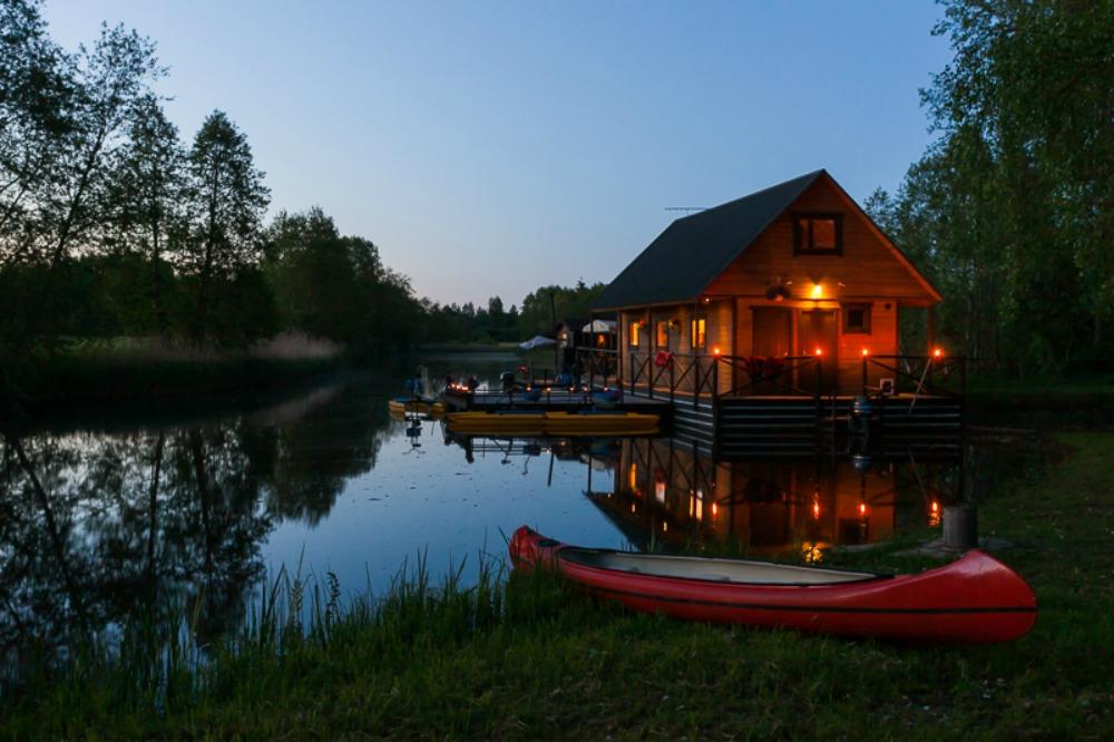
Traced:
<path fill-rule="evenodd" d="M 222 109 L 271 212 L 321 206 L 436 301 L 610 281 L 680 215 L 820 167 L 860 203 L 932 139 L 929 0 L 46 0 L 170 68 L 192 140 Z"/>

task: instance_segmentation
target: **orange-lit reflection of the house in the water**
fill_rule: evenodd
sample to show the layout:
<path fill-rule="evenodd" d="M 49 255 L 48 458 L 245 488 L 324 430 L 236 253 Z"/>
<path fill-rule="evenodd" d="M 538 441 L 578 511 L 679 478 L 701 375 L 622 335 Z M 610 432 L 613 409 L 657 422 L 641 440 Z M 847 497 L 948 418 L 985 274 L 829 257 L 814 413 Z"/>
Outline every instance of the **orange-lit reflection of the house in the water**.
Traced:
<path fill-rule="evenodd" d="M 938 527 L 961 491 L 955 460 L 713 461 L 672 439 L 626 439 L 607 463 L 613 479 L 589 475 L 587 495 L 643 550 L 727 541 L 818 562 L 831 546 Z"/>

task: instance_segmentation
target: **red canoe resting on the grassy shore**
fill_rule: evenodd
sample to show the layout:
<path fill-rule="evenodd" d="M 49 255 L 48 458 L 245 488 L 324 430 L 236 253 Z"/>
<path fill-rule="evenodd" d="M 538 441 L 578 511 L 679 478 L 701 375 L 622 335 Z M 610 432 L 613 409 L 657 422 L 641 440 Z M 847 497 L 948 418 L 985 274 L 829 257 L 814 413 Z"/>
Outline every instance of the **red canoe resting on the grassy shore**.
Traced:
<path fill-rule="evenodd" d="M 1023 636 L 1037 602 L 1020 576 L 983 551 L 919 575 L 877 575 L 769 562 L 579 548 L 522 526 L 519 569 L 550 566 L 634 611 L 690 621 L 843 636 L 988 643 Z"/>

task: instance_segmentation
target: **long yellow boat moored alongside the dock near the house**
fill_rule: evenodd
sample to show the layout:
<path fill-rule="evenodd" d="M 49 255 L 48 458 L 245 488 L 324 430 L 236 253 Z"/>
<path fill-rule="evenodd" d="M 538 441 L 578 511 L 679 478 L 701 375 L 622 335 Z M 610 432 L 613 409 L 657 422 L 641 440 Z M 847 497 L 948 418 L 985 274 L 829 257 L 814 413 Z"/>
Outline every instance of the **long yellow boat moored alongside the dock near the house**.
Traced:
<path fill-rule="evenodd" d="M 658 417 L 642 412 L 499 411 L 452 412 L 449 429 L 487 436 L 645 436 L 656 433 Z"/>

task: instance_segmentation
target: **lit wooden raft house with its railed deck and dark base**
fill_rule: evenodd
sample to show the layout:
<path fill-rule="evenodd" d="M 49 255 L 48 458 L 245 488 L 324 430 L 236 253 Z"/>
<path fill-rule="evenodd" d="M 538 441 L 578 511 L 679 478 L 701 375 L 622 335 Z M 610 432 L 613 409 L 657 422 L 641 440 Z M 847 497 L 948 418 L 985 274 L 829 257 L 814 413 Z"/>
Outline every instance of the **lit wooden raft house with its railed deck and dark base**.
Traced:
<path fill-rule="evenodd" d="M 957 449 L 966 359 L 937 342 L 941 300 L 820 169 L 674 221 L 589 305 L 587 324 L 614 328 L 614 346 L 578 346 L 573 383 L 536 401 L 607 390 L 717 457 L 843 447 L 848 432 L 863 447 Z M 913 314 L 920 353 L 899 340 Z"/>

